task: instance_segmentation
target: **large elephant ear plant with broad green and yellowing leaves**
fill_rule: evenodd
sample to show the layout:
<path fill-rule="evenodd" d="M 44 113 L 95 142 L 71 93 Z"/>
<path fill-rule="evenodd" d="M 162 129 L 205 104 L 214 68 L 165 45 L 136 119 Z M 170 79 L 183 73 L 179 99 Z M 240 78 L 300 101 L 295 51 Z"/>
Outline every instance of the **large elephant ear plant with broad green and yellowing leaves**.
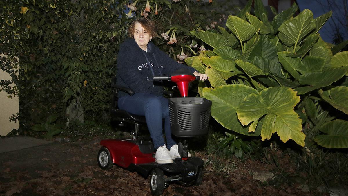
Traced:
<path fill-rule="evenodd" d="M 348 148 L 348 52 L 318 33 L 332 12 L 294 16 L 294 3 L 269 22 L 261 0 L 255 15 L 250 6 L 229 16 L 227 29 L 191 32 L 211 48 L 185 61 L 209 76 L 199 92 L 213 102 L 213 118 L 263 141 L 276 133 L 300 146 Z"/>

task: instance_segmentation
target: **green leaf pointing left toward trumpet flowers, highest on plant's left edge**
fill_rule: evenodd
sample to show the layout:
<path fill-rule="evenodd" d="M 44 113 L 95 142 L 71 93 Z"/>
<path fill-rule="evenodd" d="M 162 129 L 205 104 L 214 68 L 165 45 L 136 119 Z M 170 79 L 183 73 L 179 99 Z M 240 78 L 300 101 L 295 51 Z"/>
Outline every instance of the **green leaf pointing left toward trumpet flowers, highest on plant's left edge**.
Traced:
<path fill-rule="evenodd" d="M 227 39 L 218 33 L 212 33 L 209 31 L 191 31 L 191 34 L 198 37 L 213 48 L 227 46 Z"/>

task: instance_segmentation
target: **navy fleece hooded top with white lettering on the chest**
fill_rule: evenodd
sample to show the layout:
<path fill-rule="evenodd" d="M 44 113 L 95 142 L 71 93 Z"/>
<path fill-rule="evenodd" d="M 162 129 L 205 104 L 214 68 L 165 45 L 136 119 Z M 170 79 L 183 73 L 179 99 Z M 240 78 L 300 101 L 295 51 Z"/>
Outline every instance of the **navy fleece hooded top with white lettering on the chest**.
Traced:
<path fill-rule="evenodd" d="M 146 57 L 145 57 L 146 55 Z M 150 63 L 150 65 L 149 65 Z M 186 68 L 190 73 L 197 71 L 195 68 L 182 65 L 159 50 L 150 41 L 148 52 L 143 51 L 133 38 L 128 38 L 120 45 L 117 58 L 117 84 L 132 89 L 135 93 L 150 93 L 162 95 L 163 86 L 153 83 L 154 75 L 168 75 L 181 68 Z M 119 97 L 127 95 L 120 92 Z"/>

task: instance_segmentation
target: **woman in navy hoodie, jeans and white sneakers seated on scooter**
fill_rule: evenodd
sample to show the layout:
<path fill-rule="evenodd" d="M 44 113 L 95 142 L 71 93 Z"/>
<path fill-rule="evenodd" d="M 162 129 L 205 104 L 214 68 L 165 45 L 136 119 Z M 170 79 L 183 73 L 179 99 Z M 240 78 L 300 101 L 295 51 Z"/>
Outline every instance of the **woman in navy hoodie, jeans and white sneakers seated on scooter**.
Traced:
<path fill-rule="evenodd" d="M 200 76 L 200 80 L 206 80 L 208 77 L 192 67 L 177 63 L 155 47 L 151 42 L 155 35 L 155 26 L 150 20 L 135 20 L 128 32 L 130 38 L 120 45 L 118 53 L 117 84 L 128 86 L 135 94 L 129 96 L 120 92 L 118 107 L 129 113 L 145 116 L 156 149 L 156 163 L 173 163 L 172 159 L 180 155 L 171 135 L 168 99 L 162 96 L 163 86 L 155 85 L 151 79 L 155 75 L 171 75 L 180 68 L 186 68 L 194 75 Z M 167 143 L 163 138 L 163 119 Z"/>

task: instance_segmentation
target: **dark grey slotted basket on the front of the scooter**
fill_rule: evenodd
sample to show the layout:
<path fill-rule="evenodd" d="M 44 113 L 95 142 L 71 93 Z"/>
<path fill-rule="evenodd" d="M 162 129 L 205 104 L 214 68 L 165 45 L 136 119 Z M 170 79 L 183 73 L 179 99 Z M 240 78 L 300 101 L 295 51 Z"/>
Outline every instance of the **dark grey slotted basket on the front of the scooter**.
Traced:
<path fill-rule="evenodd" d="M 208 134 L 212 102 L 203 97 L 169 98 L 172 134 L 177 137 L 196 137 Z"/>

